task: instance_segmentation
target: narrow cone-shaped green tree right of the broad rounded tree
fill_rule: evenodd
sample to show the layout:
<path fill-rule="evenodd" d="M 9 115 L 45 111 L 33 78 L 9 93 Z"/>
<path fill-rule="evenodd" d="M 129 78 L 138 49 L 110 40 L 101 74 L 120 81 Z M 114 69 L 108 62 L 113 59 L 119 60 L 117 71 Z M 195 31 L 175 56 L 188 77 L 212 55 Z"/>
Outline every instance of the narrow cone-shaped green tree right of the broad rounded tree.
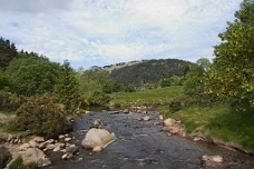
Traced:
<path fill-rule="evenodd" d="M 68 112 L 72 112 L 79 107 L 80 95 L 76 73 L 66 60 L 61 66 L 57 83 L 55 86 L 57 101 L 63 103 Z"/>

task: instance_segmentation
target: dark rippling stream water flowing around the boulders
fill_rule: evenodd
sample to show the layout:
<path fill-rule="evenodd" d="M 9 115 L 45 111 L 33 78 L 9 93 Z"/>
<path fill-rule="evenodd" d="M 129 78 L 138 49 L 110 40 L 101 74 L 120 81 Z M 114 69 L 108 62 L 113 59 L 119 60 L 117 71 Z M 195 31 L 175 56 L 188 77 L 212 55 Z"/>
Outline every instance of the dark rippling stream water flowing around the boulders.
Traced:
<path fill-rule="evenodd" d="M 75 119 L 74 142 L 80 147 L 79 155 L 62 160 L 61 153 L 50 153 L 52 161 L 47 169 L 254 169 L 254 157 L 218 146 L 194 142 L 178 136 L 168 136 L 158 112 L 149 111 L 149 121 L 138 121 L 140 113 L 89 112 Z M 81 140 L 91 122 L 100 119 L 102 128 L 114 132 L 117 141 L 100 152 L 81 148 Z M 219 155 L 225 162 L 202 162 L 203 155 Z"/>

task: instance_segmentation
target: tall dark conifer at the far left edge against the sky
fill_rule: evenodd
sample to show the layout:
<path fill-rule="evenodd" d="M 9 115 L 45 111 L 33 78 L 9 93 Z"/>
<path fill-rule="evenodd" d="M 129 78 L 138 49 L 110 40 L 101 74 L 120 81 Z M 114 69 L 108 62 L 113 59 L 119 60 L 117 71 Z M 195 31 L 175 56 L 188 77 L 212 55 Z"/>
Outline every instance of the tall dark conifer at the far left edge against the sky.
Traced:
<path fill-rule="evenodd" d="M 6 70 L 10 61 L 17 57 L 18 52 L 14 43 L 11 43 L 9 40 L 0 38 L 0 68 Z"/>

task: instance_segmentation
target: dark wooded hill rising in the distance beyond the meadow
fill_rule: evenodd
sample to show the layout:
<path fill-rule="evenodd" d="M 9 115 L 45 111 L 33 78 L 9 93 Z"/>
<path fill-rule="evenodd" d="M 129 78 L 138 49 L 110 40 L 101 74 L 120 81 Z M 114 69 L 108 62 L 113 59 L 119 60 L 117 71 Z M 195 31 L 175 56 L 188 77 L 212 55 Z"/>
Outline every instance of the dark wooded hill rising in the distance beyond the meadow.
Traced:
<path fill-rule="evenodd" d="M 183 76 L 189 64 L 194 63 L 178 59 L 143 60 L 113 69 L 110 78 L 125 84 L 157 83 L 163 77 Z"/>

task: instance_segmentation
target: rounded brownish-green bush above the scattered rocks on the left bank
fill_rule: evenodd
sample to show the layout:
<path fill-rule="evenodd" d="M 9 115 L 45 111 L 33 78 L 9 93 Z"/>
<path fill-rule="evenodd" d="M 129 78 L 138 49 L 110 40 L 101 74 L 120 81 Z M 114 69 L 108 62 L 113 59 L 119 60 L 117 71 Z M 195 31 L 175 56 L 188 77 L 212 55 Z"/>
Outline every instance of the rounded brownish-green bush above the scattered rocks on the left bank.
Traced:
<path fill-rule="evenodd" d="M 71 129 L 67 113 L 48 96 L 33 96 L 17 110 L 17 118 L 8 123 L 9 129 L 29 130 L 33 135 L 55 138 Z"/>

